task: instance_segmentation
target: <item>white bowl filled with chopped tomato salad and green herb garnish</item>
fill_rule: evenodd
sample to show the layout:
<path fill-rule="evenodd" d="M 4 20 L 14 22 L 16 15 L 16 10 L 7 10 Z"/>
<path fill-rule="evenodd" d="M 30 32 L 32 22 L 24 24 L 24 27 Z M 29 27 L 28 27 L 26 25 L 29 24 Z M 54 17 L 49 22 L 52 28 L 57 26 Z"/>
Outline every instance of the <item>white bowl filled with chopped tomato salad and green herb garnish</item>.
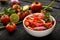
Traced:
<path fill-rule="evenodd" d="M 56 25 L 56 20 L 49 13 L 33 13 L 23 20 L 24 29 L 32 36 L 43 37 L 50 34 Z"/>

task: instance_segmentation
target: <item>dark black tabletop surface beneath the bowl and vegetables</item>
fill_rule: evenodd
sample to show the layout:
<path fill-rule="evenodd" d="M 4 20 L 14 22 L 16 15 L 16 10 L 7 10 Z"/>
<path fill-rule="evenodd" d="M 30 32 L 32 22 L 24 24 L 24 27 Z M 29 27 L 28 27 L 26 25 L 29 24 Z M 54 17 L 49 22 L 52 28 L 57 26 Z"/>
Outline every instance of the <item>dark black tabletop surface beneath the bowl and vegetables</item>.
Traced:
<path fill-rule="evenodd" d="M 31 4 L 34 0 L 20 0 L 20 4 L 28 5 Z M 48 5 L 51 0 L 37 0 L 43 3 L 43 5 Z M 6 5 L 0 5 L 0 12 L 3 11 L 4 7 L 9 7 L 9 4 Z M 51 13 L 52 16 L 56 19 L 56 26 L 54 31 L 45 37 L 37 38 L 29 35 L 24 27 L 23 24 L 18 24 L 17 29 L 14 33 L 9 34 L 5 29 L 0 31 L 0 40 L 60 40 L 60 0 L 56 0 L 54 5 L 52 5 L 54 8 Z"/>

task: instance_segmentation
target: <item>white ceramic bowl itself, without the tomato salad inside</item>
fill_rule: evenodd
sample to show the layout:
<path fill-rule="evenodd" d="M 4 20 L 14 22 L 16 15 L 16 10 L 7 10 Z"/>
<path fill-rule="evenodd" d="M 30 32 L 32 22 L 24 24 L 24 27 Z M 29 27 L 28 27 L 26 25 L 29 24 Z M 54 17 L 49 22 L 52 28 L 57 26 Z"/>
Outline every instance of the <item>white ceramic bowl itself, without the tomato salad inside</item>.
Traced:
<path fill-rule="evenodd" d="M 36 13 L 36 14 L 39 14 L 39 13 Z M 23 20 L 23 26 L 24 26 L 24 29 L 32 36 L 35 36 L 35 37 L 43 37 L 43 36 L 47 36 L 48 34 L 50 34 L 53 30 L 54 30 L 54 27 L 56 25 L 56 20 L 53 16 L 51 16 L 51 18 L 53 19 L 54 21 L 54 25 L 50 28 L 50 29 L 47 29 L 47 30 L 44 30 L 44 31 L 35 31 L 35 30 L 31 30 L 29 28 L 27 28 L 24 24 L 24 21 L 27 17 L 31 16 L 33 14 L 30 14 L 28 16 L 26 16 Z"/>

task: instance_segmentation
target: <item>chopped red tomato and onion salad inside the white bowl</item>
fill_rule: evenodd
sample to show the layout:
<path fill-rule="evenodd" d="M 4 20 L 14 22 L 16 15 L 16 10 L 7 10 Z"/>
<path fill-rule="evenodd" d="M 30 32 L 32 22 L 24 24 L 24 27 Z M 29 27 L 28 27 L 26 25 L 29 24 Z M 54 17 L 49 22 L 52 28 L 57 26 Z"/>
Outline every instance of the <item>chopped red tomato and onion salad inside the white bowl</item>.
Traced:
<path fill-rule="evenodd" d="M 26 27 L 28 27 L 31 30 L 46 30 L 48 28 L 51 28 L 53 26 L 53 21 L 46 22 L 44 14 L 33 14 L 32 16 L 29 16 L 24 21 Z"/>

